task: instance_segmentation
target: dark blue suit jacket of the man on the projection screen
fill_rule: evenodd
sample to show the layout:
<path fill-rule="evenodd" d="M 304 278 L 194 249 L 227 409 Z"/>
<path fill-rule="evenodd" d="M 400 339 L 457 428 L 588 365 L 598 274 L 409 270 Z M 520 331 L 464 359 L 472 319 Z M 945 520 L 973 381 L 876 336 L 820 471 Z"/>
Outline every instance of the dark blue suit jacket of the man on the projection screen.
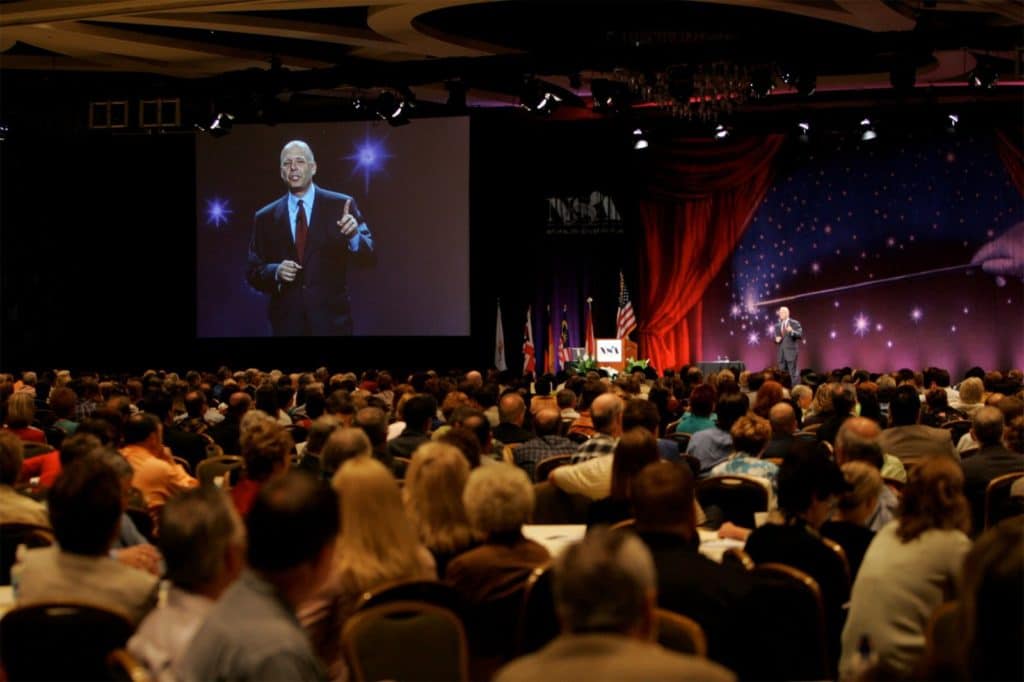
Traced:
<path fill-rule="evenodd" d="M 358 259 L 373 258 L 373 236 L 355 201 L 348 195 L 315 187 L 302 269 L 293 282 L 279 282 L 278 266 L 298 261 L 288 218 L 288 196 L 256 212 L 249 243 L 249 284 L 269 295 L 268 313 L 274 336 L 348 336 L 352 334 L 346 273 Z M 349 213 L 358 221 L 357 250 L 341 235 L 338 220 Z"/>

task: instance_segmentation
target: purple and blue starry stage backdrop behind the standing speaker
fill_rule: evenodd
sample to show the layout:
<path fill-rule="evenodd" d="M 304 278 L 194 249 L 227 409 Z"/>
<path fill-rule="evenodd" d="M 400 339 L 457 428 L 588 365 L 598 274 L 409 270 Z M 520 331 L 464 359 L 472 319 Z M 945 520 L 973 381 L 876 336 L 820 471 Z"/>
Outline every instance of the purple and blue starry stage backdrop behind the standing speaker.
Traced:
<path fill-rule="evenodd" d="M 774 365 L 787 305 L 801 367 L 1024 366 L 1022 282 L 959 267 L 1022 208 L 990 136 L 820 151 L 776 178 L 709 290 L 700 359 Z"/>

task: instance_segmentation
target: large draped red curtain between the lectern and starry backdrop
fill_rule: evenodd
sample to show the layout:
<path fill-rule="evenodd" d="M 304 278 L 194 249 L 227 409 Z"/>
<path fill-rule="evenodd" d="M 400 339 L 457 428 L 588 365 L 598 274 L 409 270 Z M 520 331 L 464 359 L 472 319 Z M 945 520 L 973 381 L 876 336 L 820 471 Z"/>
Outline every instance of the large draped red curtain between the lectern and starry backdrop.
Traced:
<path fill-rule="evenodd" d="M 652 160 L 640 203 L 640 354 L 654 367 L 705 359 L 701 299 L 768 190 L 783 140 L 680 140 Z"/>

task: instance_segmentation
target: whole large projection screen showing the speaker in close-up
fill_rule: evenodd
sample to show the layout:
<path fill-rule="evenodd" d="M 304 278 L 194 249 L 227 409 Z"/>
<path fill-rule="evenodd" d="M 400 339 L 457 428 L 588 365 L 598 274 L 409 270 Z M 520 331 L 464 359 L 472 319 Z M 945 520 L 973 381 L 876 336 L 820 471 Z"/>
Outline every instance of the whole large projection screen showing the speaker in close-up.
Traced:
<path fill-rule="evenodd" d="M 201 135 L 196 203 L 200 338 L 470 333 L 468 118 Z"/>

